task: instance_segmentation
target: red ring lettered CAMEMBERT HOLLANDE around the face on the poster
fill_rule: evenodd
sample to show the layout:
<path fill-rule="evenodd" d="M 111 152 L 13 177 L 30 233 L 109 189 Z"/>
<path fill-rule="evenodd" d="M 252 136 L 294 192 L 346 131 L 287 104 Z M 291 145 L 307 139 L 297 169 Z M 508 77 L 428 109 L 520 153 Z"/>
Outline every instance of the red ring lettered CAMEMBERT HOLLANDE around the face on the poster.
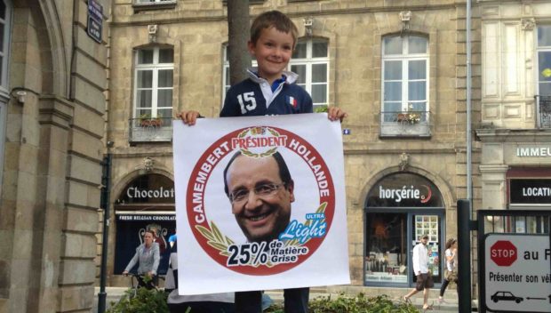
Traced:
<path fill-rule="evenodd" d="M 259 134 L 268 134 L 268 139 L 254 137 Z M 231 238 L 220 232 L 214 221 L 208 221 L 205 212 L 208 212 L 210 208 L 204 206 L 204 186 L 207 185 L 211 177 L 212 169 L 220 163 L 220 160 L 233 155 L 238 149 L 241 149 L 243 154 L 259 157 L 256 156 L 254 151 L 247 149 L 247 147 L 257 147 L 259 144 L 268 147 L 266 152 L 260 153 L 260 157 L 275 153 L 277 148 L 287 148 L 297 154 L 312 171 L 317 182 L 317 189 L 319 189 L 319 203 L 316 204 L 317 207 L 311 208 L 312 213 L 307 213 L 307 216 L 313 216 L 311 220 L 307 218 L 304 224 L 299 225 L 299 229 L 302 228 L 302 233 L 315 234 L 317 232 L 315 236 L 308 237 L 304 241 L 294 238 L 283 241 L 274 240 L 272 243 L 237 245 Z M 321 181 L 322 179 L 323 181 Z M 298 266 L 315 253 L 323 243 L 323 239 L 331 229 L 335 213 L 334 185 L 329 168 L 321 155 L 307 140 L 281 128 L 271 126 L 246 127 L 229 132 L 204 151 L 188 181 L 186 210 L 189 226 L 197 243 L 201 245 L 204 252 L 212 260 L 238 273 L 268 276 Z M 320 224 L 323 227 L 320 227 Z M 291 261 L 282 261 L 283 259 L 273 255 L 274 252 L 275 254 L 278 252 L 291 253 Z M 235 253 L 239 253 L 239 258 L 235 257 Z M 243 256 L 247 256 L 247 258 Z M 232 262 L 236 260 L 246 262 L 234 265 Z"/>

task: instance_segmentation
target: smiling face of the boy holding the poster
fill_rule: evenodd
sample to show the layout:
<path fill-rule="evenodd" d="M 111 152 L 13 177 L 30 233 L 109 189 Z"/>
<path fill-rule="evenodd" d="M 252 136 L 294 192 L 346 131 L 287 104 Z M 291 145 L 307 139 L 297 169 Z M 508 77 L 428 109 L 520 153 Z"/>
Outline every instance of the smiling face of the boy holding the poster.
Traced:
<path fill-rule="evenodd" d="M 293 38 L 276 28 L 264 28 L 256 43 L 249 42 L 249 52 L 259 63 L 259 76 L 272 84 L 281 78 L 291 60 Z"/>

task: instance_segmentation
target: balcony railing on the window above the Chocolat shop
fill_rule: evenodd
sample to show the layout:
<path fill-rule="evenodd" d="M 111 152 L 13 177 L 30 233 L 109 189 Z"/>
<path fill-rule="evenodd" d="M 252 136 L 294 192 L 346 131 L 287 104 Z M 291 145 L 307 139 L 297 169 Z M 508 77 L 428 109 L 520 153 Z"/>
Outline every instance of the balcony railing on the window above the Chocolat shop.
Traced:
<path fill-rule="evenodd" d="M 130 142 L 171 141 L 172 118 L 131 118 Z"/>

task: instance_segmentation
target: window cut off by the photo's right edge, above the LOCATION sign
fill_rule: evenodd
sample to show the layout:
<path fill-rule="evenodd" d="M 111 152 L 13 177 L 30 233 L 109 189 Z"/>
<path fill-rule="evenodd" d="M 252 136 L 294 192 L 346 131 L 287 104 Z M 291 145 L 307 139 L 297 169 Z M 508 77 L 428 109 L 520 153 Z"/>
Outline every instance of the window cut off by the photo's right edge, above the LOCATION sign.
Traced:
<path fill-rule="evenodd" d="M 551 127 L 551 26 L 538 27 L 539 125 Z"/>

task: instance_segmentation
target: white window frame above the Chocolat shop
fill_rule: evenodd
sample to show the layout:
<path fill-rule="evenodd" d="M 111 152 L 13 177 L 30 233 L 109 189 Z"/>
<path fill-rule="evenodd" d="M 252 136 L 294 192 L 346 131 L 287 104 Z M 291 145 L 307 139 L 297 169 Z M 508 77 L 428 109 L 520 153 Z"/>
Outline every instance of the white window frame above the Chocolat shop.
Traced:
<path fill-rule="evenodd" d="M 159 51 L 162 49 L 172 49 L 172 63 L 159 63 Z M 146 50 L 152 50 L 153 51 L 153 63 L 148 64 L 140 64 L 140 58 L 139 53 L 141 51 Z M 159 87 L 158 86 L 158 76 L 160 70 L 172 70 L 172 87 Z M 138 92 L 140 90 L 148 90 L 149 88 L 139 88 L 138 87 L 138 73 L 140 71 L 152 71 L 152 77 L 151 77 L 151 118 L 156 118 L 158 115 L 159 109 L 166 109 L 171 108 L 172 113 L 174 109 L 174 48 L 172 46 L 153 46 L 153 47 L 145 47 L 140 49 L 134 50 L 134 70 L 133 70 L 133 100 L 132 100 L 132 118 L 140 118 L 140 115 L 138 115 L 138 111 L 143 108 L 138 108 Z M 158 92 L 159 90 L 172 90 L 172 97 L 171 97 L 171 105 L 170 107 L 159 107 L 158 106 Z M 171 116 L 163 116 L 163 117 L 171 117 Z"/>

